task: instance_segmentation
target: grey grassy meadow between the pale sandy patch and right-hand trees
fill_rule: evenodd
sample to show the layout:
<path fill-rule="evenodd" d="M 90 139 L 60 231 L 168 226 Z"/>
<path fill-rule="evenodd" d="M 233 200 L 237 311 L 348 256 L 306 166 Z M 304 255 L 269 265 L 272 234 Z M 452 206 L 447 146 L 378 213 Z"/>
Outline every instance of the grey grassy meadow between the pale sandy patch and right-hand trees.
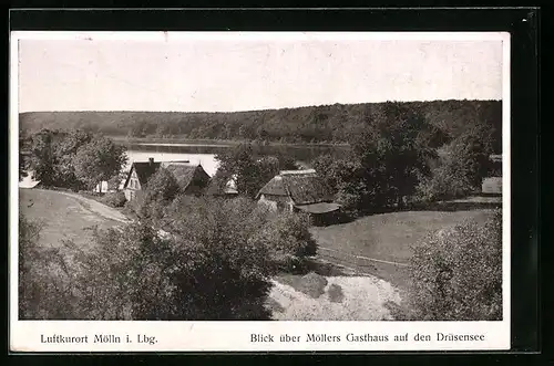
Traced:
<path fill-rule="evenodd" d="M 408 265 L 413 247 L 431 232 L 465 220 L 484 222 L 491 212 L 485 209 L 390 212 L 363 217 L 349 223 L 315 227 L 311 232 L 322 247 L 319 249 L 322 259 L 376 275 L 404 291 L 409 286 L 407 266 L 359 257 Z"/>

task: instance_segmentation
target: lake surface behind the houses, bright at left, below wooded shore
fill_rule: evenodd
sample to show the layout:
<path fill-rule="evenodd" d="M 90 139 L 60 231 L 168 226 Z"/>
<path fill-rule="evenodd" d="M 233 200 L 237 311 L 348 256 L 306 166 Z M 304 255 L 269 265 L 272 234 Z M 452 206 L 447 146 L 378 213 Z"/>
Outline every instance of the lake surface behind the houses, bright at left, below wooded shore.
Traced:
<path fill-rule="evenodd" d="M 119 142 L 127 148 L 127 166 L 131 168 L 133 161 L 147 161 L 154 158 L 155 161 L 189 160 L 192 164 L 201 164 L 209 176 L 214 176 L 218 168 L 215 158 L 229 148 L 232 144 L 166 144 L 166 143 L 124 143 Z M 310 167 L 310 161 L 319 155 L 330 154 L 332 156 L 345 156 L 346 146 L 321 146 L 321 145 L 265 145 L 259 146 L 261 155 L 283 154 L 294 158 L 298 164 Z"/>

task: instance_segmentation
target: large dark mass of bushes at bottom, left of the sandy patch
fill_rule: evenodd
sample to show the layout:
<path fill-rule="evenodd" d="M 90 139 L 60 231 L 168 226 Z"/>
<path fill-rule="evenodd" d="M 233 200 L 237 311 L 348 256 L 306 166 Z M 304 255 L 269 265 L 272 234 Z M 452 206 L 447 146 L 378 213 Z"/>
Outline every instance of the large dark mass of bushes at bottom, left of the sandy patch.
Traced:
<path fill-rule="evenodd" d="M 185 201 L 189 205 L 182 206 Z M 96 232 L 99 250 L 81 259 L 83 314 L 102 320 L 267 318 L 273 266 L 267 248 L 249 241 L 264 216 L 256 205 L 239 205 L 240 199 L 209 202 L 179 196 L 165 227 L 171 234 L 140 223 Z"/>

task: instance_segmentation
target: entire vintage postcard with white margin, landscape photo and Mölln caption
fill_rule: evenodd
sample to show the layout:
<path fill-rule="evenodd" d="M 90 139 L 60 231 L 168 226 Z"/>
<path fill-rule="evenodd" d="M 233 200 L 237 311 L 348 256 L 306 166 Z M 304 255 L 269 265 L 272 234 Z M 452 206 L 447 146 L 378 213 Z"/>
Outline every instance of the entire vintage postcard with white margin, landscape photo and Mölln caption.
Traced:
<path fill-rule="evenodd" d="M 510 348 L 510 34 L 10 40 L 13 352 Z"/>

